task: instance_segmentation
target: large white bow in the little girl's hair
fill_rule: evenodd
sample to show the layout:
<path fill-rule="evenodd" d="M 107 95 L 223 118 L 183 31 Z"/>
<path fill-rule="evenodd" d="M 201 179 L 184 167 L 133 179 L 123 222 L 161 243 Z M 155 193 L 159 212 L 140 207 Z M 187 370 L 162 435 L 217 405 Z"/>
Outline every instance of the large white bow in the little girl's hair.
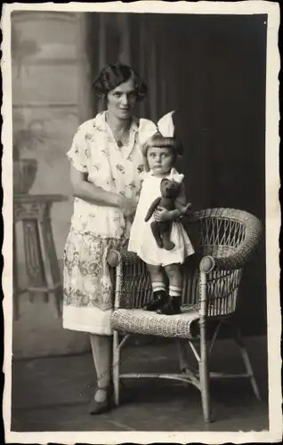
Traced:
<path fill-rule="evenodd" d="M 162 134 L 164 137 L 174 137 L 174 123 L 172 116 L 174 111 L 170 111 L 158 120 L 158 124 L 154 124 L 150 119 L 140 119 L 139 140 L 142 145 L 156 133 Z"/>

